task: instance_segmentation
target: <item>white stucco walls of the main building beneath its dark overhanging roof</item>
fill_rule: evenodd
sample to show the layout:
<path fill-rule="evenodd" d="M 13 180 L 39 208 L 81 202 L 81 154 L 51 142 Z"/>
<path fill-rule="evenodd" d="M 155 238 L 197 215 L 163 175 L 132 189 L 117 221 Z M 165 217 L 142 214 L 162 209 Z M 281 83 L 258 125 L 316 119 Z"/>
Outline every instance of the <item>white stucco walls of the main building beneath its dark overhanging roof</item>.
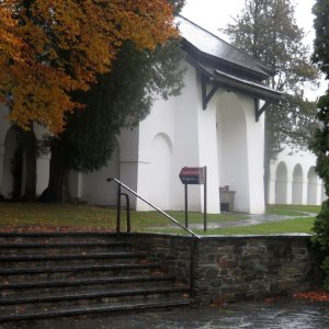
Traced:
<path fill-rule="evenodd" d="M 219 90 L 204 111 L 200 76 L 188 65 L 183 93 L 157 101 L 139 125 L 138 192 L 164 209 L 183 209 L 180 170 L 206 166 L 208 213 L 219 213 L 220 185 L 237 192 L 236 211 L 263 213 L 263 133 L 250 98 Z M 202 212 L 203 200 L 203 185 L 189 185 L 189 209 Z M 149 209 L 141 202 L 137 208 Z"/>

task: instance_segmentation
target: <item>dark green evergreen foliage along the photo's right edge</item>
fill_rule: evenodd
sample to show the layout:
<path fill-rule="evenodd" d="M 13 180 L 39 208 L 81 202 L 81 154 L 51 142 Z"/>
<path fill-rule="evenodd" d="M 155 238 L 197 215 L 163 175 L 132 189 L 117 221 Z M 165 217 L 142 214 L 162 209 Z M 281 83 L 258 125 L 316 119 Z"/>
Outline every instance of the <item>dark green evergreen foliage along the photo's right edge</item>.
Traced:
<path fill-rule="evenodd" d="M 329 1 L 317 0 L 313 9 L 316 19 L 315 49 L 313 60 L 329 79 Z M 329 90 L 318 101 L 317 118 L 320 127 L 316 131 L 310 144 L 317 156 L 316 172 L 324 180 L 326 194 L 329 195 Z M 325 286 L 329 291 L 329 201 L 322 203 L 321 212 L 317 216 L 315 226 L 315 240 L 327 254 L 322 268 L 326 273 Z"/>

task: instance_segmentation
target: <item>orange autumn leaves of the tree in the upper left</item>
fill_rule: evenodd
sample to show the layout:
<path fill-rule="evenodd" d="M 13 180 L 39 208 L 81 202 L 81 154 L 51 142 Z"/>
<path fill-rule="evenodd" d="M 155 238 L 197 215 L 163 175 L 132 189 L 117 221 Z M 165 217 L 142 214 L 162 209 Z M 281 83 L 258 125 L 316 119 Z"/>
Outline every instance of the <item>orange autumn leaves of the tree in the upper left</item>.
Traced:
<path fill-rule="evenodd" d="M 0 101 L 23 129 L 41 123 L 57 135 L 71 99 L 111 70 L 122 44 L 155 49 L 177 36 L 163 0 L 0 1 Z"/>

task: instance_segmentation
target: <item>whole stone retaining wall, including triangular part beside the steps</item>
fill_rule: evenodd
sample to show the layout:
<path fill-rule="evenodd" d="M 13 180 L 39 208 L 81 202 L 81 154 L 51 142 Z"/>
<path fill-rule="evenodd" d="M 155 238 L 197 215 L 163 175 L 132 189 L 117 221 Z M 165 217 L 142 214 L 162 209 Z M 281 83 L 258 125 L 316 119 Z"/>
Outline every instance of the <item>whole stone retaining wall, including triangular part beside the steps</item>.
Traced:
<path fill-rule="evenodd" d="M 129 235 L 129 240 L 190 281 L 190 237 Z M 203 305 L 307 291 L 321 281 L 320 254 L 310 236 L 241 236 L 195 239 L 194 297 Z"/>

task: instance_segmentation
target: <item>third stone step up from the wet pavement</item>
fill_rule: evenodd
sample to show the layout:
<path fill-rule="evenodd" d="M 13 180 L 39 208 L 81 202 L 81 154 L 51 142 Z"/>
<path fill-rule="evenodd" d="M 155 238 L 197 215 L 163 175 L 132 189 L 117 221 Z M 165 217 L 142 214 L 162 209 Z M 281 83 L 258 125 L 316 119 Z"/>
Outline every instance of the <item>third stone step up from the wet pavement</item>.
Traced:
<path fill-rule="evenodd" d="M 58 280 L 38 282 L 11 282 L 0 284 L 0 296 L 22 296 L 60 293 L 81 292 L 90 290 L 133 288 L 133 287 L 159 287 L 173 286 L 173 275 L 131 275 L 116 277 L 92 277 L 80 280 Z"/>

